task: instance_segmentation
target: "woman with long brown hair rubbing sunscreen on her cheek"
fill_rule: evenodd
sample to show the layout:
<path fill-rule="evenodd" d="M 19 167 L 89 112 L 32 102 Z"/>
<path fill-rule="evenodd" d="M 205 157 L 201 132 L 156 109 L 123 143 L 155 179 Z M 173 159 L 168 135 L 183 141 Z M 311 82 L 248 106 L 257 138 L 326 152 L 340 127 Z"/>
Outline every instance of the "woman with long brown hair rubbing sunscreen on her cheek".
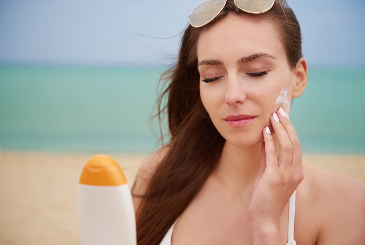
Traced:
<path fill-rule="evenodd" d="M 138 244 L 365 243 L 364 188 L 301 161 L 288 116 L 307 84 L 299 23 L 284 0 L 262 5 L 192 12 L 160 97 L 170 142 L 132 189 Z"/>

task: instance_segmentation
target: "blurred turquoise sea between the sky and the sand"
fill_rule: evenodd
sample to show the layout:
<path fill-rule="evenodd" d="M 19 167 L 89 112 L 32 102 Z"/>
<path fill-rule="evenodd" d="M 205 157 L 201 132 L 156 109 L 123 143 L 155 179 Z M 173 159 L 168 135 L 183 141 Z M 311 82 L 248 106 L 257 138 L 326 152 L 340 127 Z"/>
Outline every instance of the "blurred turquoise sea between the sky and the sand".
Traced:
<path fill-rule="evenodd" d="M 153 151 L 149 118 L 163 70 L 2 65 L 1 149 Z M 310 69 L 291 109 L 303 152 L 365 153 L 364 92 L 365 68 Z"/>

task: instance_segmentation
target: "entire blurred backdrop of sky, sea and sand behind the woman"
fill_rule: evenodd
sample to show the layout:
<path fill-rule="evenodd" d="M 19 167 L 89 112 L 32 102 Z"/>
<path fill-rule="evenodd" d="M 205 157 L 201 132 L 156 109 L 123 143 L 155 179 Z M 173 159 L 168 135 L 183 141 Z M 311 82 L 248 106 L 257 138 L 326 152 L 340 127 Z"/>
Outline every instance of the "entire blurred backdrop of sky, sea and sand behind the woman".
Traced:
<path fill-rule="evenodd" d="M 158 80 L 200 3 L 0 1 L 4 244 L 79 243 L 76 186 L 92 155 L 110 154 L 133 182 L 158 148 Z M 303 159 L 364 185 L 365 2 L 289 5 L 309 66 L 291 109 Z"/>

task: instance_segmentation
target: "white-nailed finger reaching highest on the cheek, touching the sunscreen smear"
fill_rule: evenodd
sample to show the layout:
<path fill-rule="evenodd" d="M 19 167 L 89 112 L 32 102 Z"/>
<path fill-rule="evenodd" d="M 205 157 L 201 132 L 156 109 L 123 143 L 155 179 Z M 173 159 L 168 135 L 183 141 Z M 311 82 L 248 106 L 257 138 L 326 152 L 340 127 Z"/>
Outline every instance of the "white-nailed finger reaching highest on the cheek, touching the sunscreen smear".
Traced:
<path fill-rule="evenodd" d="M 295 132 L 295 129 L 293 125 L 291 124 L 288 114 L 286 114 L 283 110 L 283 108 L 279 108 L 278 114 L 277 114 L 281 125 L 285 129 L 285 132 L 287 132 L 287 135 L 289 137 L 289 140 L 292 145 L 292 166 L 297 167 L 298 164 L 301 167 L 301 148 L 300 148 L 300 141 L 299 138 Z"/>

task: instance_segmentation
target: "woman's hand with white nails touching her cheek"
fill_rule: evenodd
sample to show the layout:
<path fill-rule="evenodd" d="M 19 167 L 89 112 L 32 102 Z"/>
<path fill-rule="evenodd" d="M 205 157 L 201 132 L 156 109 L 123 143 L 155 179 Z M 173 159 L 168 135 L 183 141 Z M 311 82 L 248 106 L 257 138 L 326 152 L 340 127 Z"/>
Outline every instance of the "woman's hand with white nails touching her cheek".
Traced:
<path fill-rule="evenodd" d="M 280 148 L 277 156 L 273 136 L 268 127 L 264 128 L 261 167 L 249 206 L 253 229 L 255 225 L 277 229 L 281 213 L 304 178 L 300 142 L 289 118 L 280 108 L 270 121 Z"/>

